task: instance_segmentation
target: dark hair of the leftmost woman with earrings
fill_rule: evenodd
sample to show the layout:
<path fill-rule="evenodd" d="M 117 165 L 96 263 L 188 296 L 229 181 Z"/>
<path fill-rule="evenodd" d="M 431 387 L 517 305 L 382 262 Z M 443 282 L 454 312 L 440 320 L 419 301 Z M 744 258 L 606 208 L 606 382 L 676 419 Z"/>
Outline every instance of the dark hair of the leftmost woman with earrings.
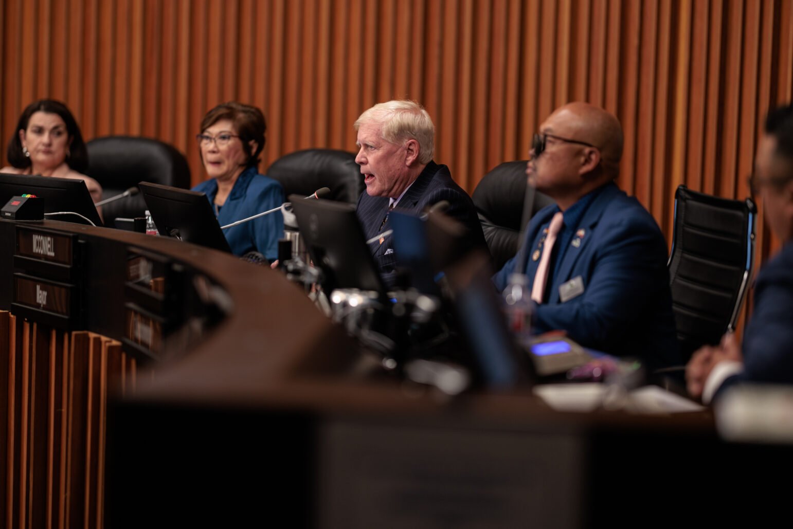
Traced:
<path fill-rule="evenodd" d="M 66 124 L 66 132 L 69 143 L 69 156 L 67 156 L 66 163 L 73 170 L 82 173 L 88 167 L 88 151 L 86 150 L 86 143 L 82 140 L 82 132 L 75 121 L 75 117 L 71 115 L 71 111 L 67 105 L 55 99 L 40 99 L 25 107 L 22 115 L 19 117 L 17 128 L 8 142 L 8 149 L 6 156 L 8 163 L 17 169 L 27 169 L 30 167 L 30 159 L 22 152 L 22 142 L 19 139 L 19 131 L 28 130 L 30 117 L 36 112 L 46 112 L 50 114 L 58 114 Z"/>

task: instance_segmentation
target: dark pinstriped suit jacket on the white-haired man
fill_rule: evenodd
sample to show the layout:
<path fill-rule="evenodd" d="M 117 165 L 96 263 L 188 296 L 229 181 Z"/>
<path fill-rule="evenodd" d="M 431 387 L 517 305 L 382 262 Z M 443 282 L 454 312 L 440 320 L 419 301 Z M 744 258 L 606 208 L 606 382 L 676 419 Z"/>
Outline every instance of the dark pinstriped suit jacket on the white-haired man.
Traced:
<path fill-rule="evenodd" d="M 427 163 L 427 167 L 424 167 L 419 177 L 397 203 L 396 209 L 406 213 L 419 214 L 427 206 L 442 200 L 449 202 L 446 216 L 465 226 L 468 243 L 472 247 L 482 247 L 486 250 L 487 243 L 485 243 L 482 225 L 477 217 L 477 209 L 473 205 L 471 197 L 452 180 L 449 168 L 445 165 L 438 165 L 432 161 Z M 370 197 L 366 190 L 358 197 L 358 220 L 361 222 L 366 240 L 370 240 L 377 233 L 390 229 L 389 220 L 386 220 L 385 225 L 380 229 L 388 209 L 388 197 Z M 382 243 L 375 241 L 369 246 L 385 285 L 393 286 L 396 278 L 397 255 L 393 251 L 392 236 L 385 236 Z"/>

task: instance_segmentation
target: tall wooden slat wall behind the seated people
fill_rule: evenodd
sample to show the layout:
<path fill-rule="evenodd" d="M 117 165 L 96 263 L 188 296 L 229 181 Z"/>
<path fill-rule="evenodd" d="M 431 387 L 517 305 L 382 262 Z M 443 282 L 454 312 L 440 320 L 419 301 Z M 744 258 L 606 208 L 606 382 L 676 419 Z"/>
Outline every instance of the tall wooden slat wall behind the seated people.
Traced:
<path fill-rule="evenodd" d="M 193 183 L 193 136 L 228 99 L 264 110 L 264 168 L 354 150 L 363 109 L 414 98 L 436 121 L 435 159 L 469 191 L 585 99 L 623 121 L 619 182 L 668 238 L 678 184 L 745 196 L 764 113 L 793 98 L 787 0 L 6 0 L 0 41 L 0 144 L 52 96 L 87 139 L 174 144 Z M 760 255 L 777 245 L 761 222 Z"/>

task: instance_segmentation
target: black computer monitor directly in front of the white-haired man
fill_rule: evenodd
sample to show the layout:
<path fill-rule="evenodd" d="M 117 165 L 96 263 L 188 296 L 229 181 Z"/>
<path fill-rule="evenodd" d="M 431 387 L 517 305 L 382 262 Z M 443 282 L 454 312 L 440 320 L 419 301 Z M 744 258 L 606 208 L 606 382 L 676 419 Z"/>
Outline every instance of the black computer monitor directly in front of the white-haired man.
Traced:
<path fill-rule="evenodd" d="M 324 273 L 322 287 L 373 290 L 385 294 L 385 283 L 366 244 L 363 228 L 351 204 L 289 195 L 297 228 L 308 253 Z"/>

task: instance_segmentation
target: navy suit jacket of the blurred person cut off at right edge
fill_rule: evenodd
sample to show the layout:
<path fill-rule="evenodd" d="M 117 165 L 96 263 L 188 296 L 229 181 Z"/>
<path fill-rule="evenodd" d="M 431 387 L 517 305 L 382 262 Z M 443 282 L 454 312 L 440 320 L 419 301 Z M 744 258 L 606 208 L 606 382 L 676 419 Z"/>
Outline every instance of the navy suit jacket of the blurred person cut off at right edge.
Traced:
<path fill-rule="evenodd" d="M 793 243 L 757 274 L 752 319 L 744 329 L 741 351 L 743 372 L 727 378 L 716 397 L 740 382 L 793 384 Z"/>

